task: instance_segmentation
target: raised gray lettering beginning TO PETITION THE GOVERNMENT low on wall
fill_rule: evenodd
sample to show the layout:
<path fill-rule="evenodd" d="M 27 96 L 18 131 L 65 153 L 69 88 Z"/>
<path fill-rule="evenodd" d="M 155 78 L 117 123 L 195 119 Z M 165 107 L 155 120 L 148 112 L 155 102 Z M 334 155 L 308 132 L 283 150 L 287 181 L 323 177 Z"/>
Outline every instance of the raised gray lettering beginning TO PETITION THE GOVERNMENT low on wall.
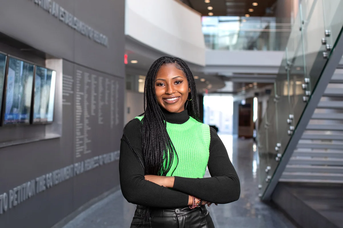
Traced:
<path fill-rule="evenodd" d="M 36 194 L 43 192 L 74 176 L 119 160 L 119 151 L 103 154 L 57 169 L 35 179 L 29 180 L 8 192 L 0 194 L 0 215 L 23 203 Z"/>

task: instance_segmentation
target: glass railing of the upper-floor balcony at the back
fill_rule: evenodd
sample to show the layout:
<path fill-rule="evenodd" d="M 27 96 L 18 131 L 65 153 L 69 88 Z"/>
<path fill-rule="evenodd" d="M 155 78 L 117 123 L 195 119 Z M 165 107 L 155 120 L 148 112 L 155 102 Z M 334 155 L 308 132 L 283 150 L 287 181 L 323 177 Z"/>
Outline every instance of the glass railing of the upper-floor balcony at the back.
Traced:
<path fill-rule="evenodd" d="M 204 16 L 202 31 L 208 49 L 279 51 L 291 24 L 277 23 L 275 17 Z"/>

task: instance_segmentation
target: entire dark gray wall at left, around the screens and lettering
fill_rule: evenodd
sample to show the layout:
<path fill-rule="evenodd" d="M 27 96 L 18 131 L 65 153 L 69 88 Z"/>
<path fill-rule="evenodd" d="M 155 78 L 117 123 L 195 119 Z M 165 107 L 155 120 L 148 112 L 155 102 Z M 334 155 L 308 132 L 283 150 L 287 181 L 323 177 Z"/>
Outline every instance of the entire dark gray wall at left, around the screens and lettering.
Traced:
<path fill-rule="evenodd" d="M 25 182 L 86 159 L 111 152 L 115 157 L 109 160 L 108 156 L 97 157 L 99 160 L 95 161 L 101 163 L 97 167 L 54 183 L 6 212 L 0 206 L 1 228 L 51 227 L 87 201 L 119 185 L 117 151 L 123 127 L 125 1 L 55 2 L 106 35 L 109 46 L 81 35 L 32 0 L 0 0 L 0 33 L 46 53 L 47 58 L 63 59 L 63 91 L 62 88 L 56 91 L 56 96 L 63 99 L 62 110 L 57 110 L 62 114 L 58 123 L 62 125 L 61 136 L 0 147 L 0 196 L 8 195 Z M 0 51 L 40 65 L 45 61 L 41 56 L 11 48 L 6 41 L 0 43 Z M 76 123 L 78 117 L 80 123 Z M 56 121 L 60 122 L 59 119 Z M 18 126 L 15 132 L 25 135 L 34 127 L 41 128 Z M 9 128 L 0 127 L 0 135 L 7 132 Z M 81 141 L 79 134 L 83 136 Z M 88 141 L 82 142 L 85 138 Z M 84 145 L 86 148 L 80 147 Z M 103 158 L 106 164 L 100 162 Z"/>

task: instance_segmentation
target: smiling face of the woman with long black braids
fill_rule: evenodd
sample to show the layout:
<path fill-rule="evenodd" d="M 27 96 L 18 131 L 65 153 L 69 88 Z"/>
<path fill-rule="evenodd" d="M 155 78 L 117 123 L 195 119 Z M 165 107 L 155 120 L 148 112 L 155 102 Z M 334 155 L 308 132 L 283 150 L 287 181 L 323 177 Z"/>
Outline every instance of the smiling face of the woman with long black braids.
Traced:
<path fill-rule="evenodd" d="M 190 88 L 185 73 L 174 64 L 162 65 L 156 74 L 157 103 L 168 112 L 182 112 Z"/>

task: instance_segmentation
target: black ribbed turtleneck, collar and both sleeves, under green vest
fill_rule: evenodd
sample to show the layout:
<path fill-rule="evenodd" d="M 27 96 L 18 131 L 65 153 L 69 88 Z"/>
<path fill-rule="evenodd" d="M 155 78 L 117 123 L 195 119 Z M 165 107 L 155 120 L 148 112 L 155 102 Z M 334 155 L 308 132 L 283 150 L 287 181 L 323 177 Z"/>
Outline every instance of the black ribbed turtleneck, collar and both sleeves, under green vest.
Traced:
<path fill-rule="evenodd" d="M 168 123 L 183 124 L 188 121 L 187 110 L 170 113 L 163 110 Z M 124 128 L 132 148 L 142 156 L 141 122 L 131 120 Z M 133 204 L 151 207 L 183 207 L 188 204 L 188 195 L 212 203 L 230 203 L 238 200 L 240 183 L 226 148 L 217 132 L 210 128 L 210 156 L 208 169 L 211 177 L 175 177 L 173 189 L 159 186 L 144 179 L 144 169 L 132 152 L 125 137 L 120 145 L 119 174 L 121 191 L 125 199 Z"/>

